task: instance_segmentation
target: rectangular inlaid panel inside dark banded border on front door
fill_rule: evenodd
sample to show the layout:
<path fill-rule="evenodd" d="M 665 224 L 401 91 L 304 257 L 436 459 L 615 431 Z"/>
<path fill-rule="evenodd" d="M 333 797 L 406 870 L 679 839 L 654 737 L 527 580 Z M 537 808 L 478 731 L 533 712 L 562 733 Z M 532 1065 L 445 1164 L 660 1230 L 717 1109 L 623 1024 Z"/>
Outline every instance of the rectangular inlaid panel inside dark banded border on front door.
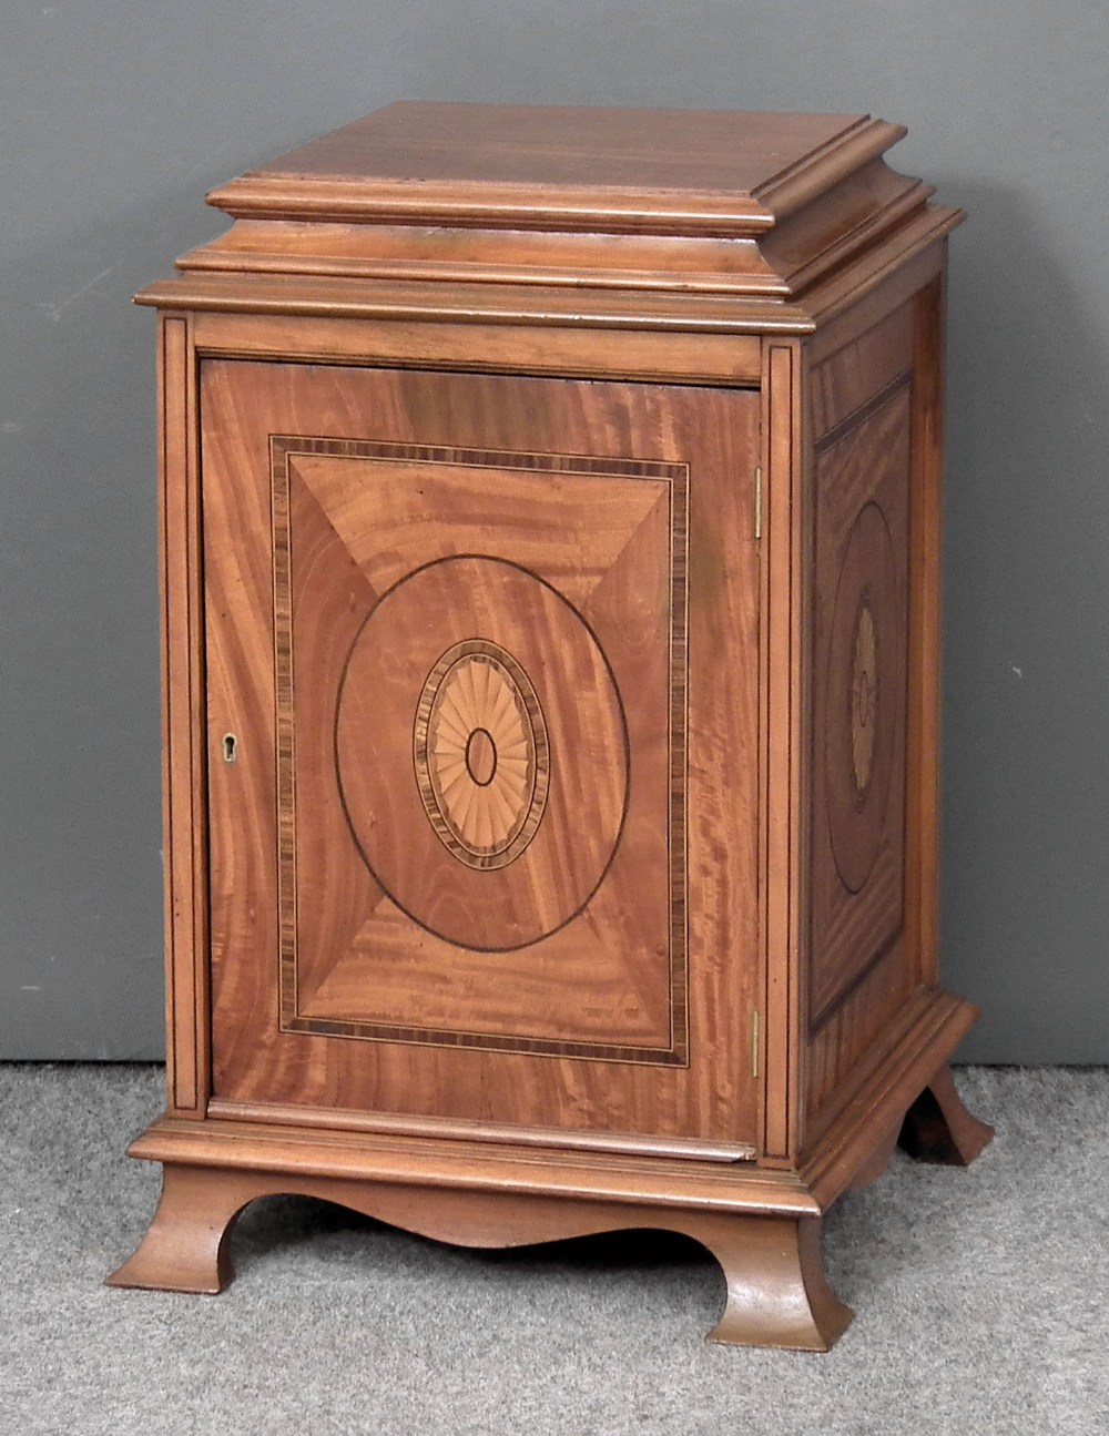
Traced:
<path fill-rule="evenodd" d="M 270 452 L 280 1031 L 684 1064 L 688 468 Z"/>

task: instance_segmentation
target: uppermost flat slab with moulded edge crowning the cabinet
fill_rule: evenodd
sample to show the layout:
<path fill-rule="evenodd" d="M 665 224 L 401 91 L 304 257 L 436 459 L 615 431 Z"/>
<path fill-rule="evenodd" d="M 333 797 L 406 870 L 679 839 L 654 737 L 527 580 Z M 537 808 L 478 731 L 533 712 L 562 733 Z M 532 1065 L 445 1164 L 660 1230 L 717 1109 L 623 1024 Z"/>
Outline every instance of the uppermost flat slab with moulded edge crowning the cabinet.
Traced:
<path fill-rule="evenodd" d="M 208 200 L 237 217 L 751 234 L 904 134 L 868 115 L 401 102 Z"/>

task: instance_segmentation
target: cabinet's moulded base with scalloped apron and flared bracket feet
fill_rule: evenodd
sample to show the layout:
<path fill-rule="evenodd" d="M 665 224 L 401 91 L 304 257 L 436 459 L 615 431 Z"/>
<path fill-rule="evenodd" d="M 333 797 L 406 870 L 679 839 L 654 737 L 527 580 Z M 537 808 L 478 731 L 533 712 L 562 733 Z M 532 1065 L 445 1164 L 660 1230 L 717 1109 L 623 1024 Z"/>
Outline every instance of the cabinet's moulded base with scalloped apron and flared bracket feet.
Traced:
<path fill-rule="evenodd" d="M 869 1142 L 849 1120 L 826 1137 L 848 1165 L 843 1190 L 881 1176 L 898 1137 L 918 1160 L 965 1165 L 993 1134 L 967 1113 L 945 1063 L 902 1117 L 891 1123 L 882 1113 L 879 1122 Z M 162 1195 L 138 1251 L 108 1278 L 112 1287 L 223 1291 L 234 1277 L 228 1239 L 237 1216 L 257 1198 L 283 1195 L 335 1202 L 460 1246 L 678 1232 L 705 1246 L 724 1272 L 724 1313 L 710 1341 L 826 1351 L 852 1318 L 829 1288 L 820 1258 L 820 1223 L 830 1205 L 826 1162 L 820 1178 L 806 1182 L 797 1172 L 756 1165 L 599 1152 L 569 1157 L 493 1143 L 177 1117 L 155 1122 L 131 1155 L 162 1162 Z"/>

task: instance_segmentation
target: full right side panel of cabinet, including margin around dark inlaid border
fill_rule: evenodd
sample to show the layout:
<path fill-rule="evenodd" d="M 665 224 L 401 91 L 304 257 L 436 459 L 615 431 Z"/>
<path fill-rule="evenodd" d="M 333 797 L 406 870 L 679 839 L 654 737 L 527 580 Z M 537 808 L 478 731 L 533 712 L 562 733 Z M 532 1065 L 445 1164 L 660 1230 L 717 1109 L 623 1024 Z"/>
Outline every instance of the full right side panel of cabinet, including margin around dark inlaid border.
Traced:
<path fill-rule="evenodd" d="M 917 300 L 901 303 L 810 370 L 806 1142 L 842 1106 L 921 981 L 921 909 L 931 895 L 918 880 L 922 816 L 909 788 L 919 788 L 922 742 L 934 737 L 921 728 L 919 665 L 925 652 L 935 656 L 934 643 L 921 646 L 935 615 L 919 599 L 919 526 L 932 517 L 914 490 L 935 472 L 919 457 L 934 435 L 915 421 L 918 386 L 929 382 L 915 365 L 917 316 Z M 935 538 L 928 543 L 934 551 Z"/>

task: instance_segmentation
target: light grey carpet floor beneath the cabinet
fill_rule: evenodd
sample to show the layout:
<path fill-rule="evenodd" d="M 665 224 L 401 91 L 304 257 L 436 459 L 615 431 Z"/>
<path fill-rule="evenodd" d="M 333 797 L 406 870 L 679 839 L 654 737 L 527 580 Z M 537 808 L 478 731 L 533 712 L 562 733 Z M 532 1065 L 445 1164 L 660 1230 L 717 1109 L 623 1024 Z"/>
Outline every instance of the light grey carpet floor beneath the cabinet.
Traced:
<path fill-rule="evenodd" d="M 158 1173 L 122 1149 L 151 1067 L 0 1067 L 6 1436 L 924 1436 L 1109 1432 L 1109 1073 L 958 1073 L 998 1134 L 901 1153 L 826 1222 L 855 1323 L 827 1356 L 708 1347 L 723 1282 L 639 1234 L 441 1246 L 259 1202 L 223 1297 L 109 1291 Z"/>

